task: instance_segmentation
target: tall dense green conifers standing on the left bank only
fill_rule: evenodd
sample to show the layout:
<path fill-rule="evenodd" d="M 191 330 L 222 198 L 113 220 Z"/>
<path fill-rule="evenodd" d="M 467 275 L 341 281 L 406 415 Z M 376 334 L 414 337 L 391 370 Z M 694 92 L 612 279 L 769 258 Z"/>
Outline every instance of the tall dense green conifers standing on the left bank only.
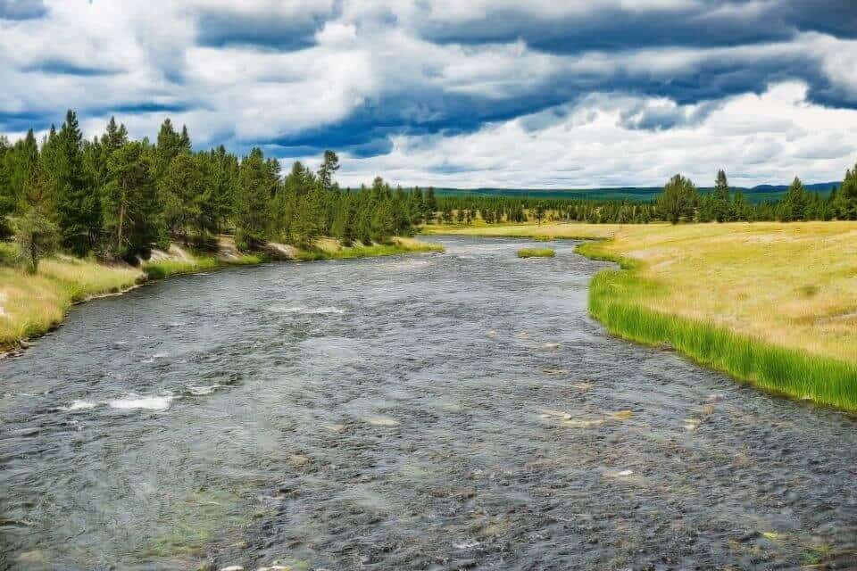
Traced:
<path fill-rule="evenodd" d="M 319 236 L 370 244 L 412 234 L 428 216 L 433 196 L 381 178 L 341 189 L 338 168 L 332 151 L 318 170 L 298 161 L 285 176 L 258 147 L 240 159 L 222 145 L 195 152 L 187 128 L 169 119 L 154 143 L 131 140 L 113 118 L 87 140 L 69 111 L 41 144 L 32 129 L 14 143 L 0 137 L 0 237 L 15 235 L 35 270 L 55 247 L 136 261 L 171 240 L 214 247 L 220 233 L 234 234 L 241 249 L 312 245 Z"/>

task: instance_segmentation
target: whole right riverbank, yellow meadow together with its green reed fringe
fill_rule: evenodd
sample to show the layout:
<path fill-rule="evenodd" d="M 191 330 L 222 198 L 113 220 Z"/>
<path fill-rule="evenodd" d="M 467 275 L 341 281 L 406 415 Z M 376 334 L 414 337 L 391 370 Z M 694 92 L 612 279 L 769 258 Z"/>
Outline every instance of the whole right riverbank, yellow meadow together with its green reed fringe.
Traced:
<path fill-rule="evenodd" d="M 857 410 L 857 223 L 543 224 L 430 234 L 611 238 L 581 244 L 622 269 L 589 310 L 629 340 L 668 344 L 767 390 Z"/>

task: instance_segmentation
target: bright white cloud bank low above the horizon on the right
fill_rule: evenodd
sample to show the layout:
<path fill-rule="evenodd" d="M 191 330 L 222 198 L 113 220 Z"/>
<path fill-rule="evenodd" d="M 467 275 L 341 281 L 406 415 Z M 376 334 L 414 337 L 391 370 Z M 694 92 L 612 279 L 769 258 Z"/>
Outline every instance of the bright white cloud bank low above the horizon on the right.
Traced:
<path fill-rule="evenodd" d="M 782 83 L 736 95 L 703 120 L 650 131 L 628 128 L 631 109 L 662 100 L 594 95 L 576 105 L 496 123 L 460 137 L 398 137 L 392 153 L 345 161 L 349 184 L 383 172 L 423 186 L 659 186 L 681 172 L 709 186 L 718 169 L 736 185 L 842 178 L 857 159 L 857 111 L 807 103 L 806 86 Z M 670 105 L 683 115 L 695 106 Z M 548 120 L 538 120 L 549 115 Z M 527 125 L 541 125 L 533 130 Z M 736 128 L 750 125 L 750 128 Z M 437 169 L 452 167 L 451 172 Z"/>

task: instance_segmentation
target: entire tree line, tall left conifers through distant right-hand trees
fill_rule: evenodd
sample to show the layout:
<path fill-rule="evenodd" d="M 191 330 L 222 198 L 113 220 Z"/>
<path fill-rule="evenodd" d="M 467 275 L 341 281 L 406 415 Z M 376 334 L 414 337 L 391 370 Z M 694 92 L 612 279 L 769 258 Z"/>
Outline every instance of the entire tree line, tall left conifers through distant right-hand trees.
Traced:
<path fill-rule="evenodd" d="M 749 203 L 720 170 L 711 192 L 676 175 L 653 201 L 436 195 L 433 188 L 392 188 L 382 178 L 340 188 L 337 154 L 317 170 L 296 161 L 283 175 L 256 147 L 239 158 L 220 145 L 195 152 L 187 128 L 164 120 L 154 143 L 131 140 L 111 118 L 104 134 L 84 139 L 77 115 L 41 143 L 32 129 L 11 143 L 0 137 L 0 238 L 14 235 L 31 270 L 55 248 L 78 256 L 137 261 L 180 240 L 216 247 L 234 234 L 240 249 L 268 241 L 312 246 L 319 236 L 343 244 L 384 242 L 420 224 L 535 220 L 647 223 L 857 219 L 857 166 L 828 196 L 795 178 L 775 202 Z"/>

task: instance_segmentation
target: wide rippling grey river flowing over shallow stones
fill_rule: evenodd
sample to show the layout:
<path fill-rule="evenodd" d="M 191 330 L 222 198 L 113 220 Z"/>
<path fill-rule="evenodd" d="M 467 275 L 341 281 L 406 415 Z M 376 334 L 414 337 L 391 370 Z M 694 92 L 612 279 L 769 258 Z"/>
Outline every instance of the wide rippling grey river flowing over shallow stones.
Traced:
<path fill-rule="evenodd" d="M 176 277 L 0 362 L 0 568 L 854 568 L 857 422 L 606 335 L 553 244 Z"/>

